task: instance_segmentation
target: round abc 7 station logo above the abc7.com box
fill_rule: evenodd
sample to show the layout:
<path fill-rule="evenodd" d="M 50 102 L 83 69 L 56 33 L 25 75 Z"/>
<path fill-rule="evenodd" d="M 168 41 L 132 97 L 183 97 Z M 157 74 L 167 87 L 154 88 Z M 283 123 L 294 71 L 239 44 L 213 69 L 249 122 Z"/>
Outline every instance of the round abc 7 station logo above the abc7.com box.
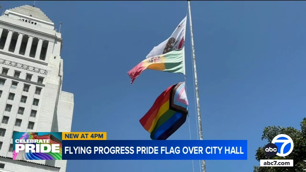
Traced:
<path fill-rule="evenodd" d="M 277 143 L 277 145 L 275 144 Z M 275 136 L 271 143 L 265 146 L 267 156 L 288 156 L 293 151 L 293 140 L 286 134 Z"/>

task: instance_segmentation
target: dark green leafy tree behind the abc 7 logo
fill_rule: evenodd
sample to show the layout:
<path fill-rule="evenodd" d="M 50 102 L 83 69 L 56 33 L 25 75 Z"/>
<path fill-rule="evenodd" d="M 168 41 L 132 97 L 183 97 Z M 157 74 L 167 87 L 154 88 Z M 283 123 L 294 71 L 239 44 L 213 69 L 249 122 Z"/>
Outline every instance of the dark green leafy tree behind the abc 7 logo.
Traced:
<path fill-rule="evenodd" d="M 294 143 L 293 151 L 286 157 L 268 157 L 263 147 L 259 147 L 256 151 L 256 160 L 260 159 L 293 159 L 293 167 L 259 167 L 254 166 L 254 172 L 306 172 L 306 118 L 300 123 L 301 129 L 293 127 L 283 128 L 276 126 L 265 127 L 261 140 L 267 139 L 269 143 L 278 134 L 286 134 L 290 136 Z"/>

